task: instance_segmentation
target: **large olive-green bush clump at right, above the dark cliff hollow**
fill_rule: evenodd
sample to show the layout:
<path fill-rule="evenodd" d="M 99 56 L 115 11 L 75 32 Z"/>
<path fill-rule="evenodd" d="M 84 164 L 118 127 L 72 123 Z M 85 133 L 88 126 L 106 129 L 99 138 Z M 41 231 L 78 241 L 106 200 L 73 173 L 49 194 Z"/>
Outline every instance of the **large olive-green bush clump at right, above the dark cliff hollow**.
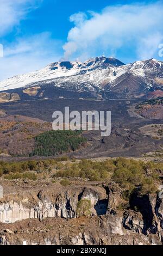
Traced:
<path fill-rule="evenodd" d="M 120 157 L 115 161 L 115 165 L 116 169 L 112 179 L 126 189 L 128 194 L 131 194 L 135 188 L 138 188 L 139 193 L 143 194 L 156 192 L 154 184 L 154 181 L 158 179 L 156 170 L 162 166 L 162 163 L 160 166 L 160 164 L 152 162 L 144 163 Z M 147 174 L 148 170 L 150 170 L 149 174 Z"/>

